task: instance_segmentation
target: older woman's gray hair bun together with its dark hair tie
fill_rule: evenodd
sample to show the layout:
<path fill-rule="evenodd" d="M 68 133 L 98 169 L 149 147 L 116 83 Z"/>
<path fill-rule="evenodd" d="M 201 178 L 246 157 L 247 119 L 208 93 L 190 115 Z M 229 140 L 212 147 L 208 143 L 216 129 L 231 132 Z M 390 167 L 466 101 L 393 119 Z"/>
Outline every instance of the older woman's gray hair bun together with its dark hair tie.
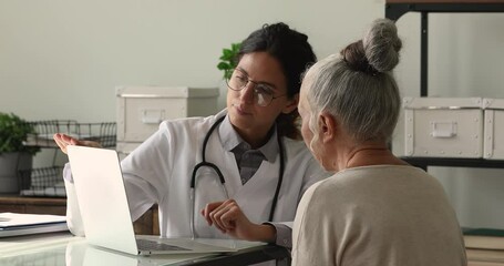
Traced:
<path fill-rule="evenodd" d="M 350 69 L 377 75 L 395 68 L 401 48 L 395 24 L 391 20 L 379 19 L 362 40 L 346 47 L 341 57 Z"/>

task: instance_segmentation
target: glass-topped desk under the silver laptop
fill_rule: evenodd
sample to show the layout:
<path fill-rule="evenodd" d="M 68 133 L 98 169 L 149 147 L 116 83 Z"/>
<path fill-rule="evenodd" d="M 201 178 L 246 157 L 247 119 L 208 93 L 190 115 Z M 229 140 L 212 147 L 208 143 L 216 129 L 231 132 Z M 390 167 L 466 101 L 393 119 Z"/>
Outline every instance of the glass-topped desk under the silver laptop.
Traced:
<path fill-rule="evenodd" d="M 0 238 L 0 265 L 31 266 L 161 266 L 161 265 L 249 265 L 289 258 L 279 246 L 260 245 L 230 254 L 179 254 L 133 256 L 88 245 L 70 233 Z"/>

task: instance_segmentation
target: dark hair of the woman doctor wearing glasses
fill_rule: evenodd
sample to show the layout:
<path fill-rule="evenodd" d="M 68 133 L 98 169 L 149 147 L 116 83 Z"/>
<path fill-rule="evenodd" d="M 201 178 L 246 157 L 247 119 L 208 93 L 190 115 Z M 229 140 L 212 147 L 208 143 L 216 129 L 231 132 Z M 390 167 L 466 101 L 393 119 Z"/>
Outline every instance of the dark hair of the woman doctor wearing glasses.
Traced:
<path fill-rule="evenodd" d="M 254 31 L 241 42 L 238 61 L 244 54 L 253 52 L 267 52 L 280 63 L 287 80 L 287 95 L 292 99 L 301 88 L 301 74 L 317 58 L 308 43 L 308 37 L 287 24 L 279 22 L 265 24 Z M 299 140 L 297 109 L 289 114 L 281 113 L 277 117 L 278 134 Z"/>

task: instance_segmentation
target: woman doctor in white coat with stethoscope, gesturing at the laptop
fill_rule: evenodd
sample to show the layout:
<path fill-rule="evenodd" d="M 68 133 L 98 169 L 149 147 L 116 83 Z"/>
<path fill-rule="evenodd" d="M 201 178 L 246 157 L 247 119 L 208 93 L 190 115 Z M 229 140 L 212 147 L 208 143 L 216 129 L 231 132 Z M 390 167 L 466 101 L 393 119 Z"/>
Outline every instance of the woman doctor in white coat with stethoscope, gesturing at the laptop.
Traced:
<path fill-rule="evenodd" d="M 163 237 L 230 235 L 291 246 L 299 200 L 325 175 L 297 126 L 300 75 L 316 61 L 307 40 L 285 23 L 253 32 L 227 80 L 226 110 L 165 121 L 122 161 L 133 221 L 157 204 Z M 54 140 L 63 152 L 97 145 L 60 133 Z M 82 235 L 70 165 L 63 175 L 69 227 Z M 235 231 L 236 223 L 245 229 Z"/>

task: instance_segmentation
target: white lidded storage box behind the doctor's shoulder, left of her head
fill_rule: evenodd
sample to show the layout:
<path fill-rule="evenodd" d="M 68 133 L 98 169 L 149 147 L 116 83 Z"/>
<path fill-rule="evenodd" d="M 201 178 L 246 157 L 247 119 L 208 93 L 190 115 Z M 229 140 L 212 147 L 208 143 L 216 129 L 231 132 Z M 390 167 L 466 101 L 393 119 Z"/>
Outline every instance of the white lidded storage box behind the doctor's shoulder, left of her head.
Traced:
<path fill-rule="evenodd" d="M 218 93 L 218 88 L 116 88 L 117 151 L 131 152 L 164 120 L 215 114 Z"/>

